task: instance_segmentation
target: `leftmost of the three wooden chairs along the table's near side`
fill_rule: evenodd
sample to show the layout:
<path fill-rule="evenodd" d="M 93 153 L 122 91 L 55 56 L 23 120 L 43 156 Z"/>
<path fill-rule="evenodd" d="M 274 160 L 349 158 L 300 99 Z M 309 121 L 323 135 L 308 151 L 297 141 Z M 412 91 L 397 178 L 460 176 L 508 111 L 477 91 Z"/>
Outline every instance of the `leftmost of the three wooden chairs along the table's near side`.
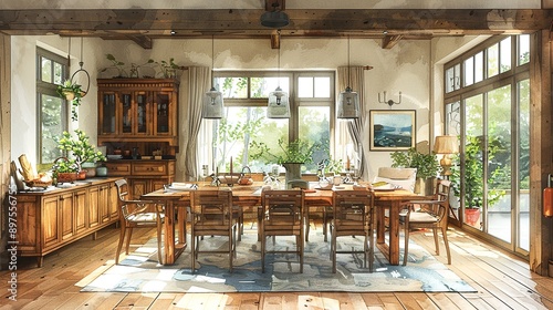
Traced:
<path fill-rule="evenodd" d="M 238 218 L 233 216 L 232 192 L 230 189 L 198 189 L 190 192 L 190 250 L 191 270 L 196 272 L 196 260 L 200 252 L 228 254 L 229 271 L 236 257 Z M 219 236 L 228 238 L 226 250 L 201 249 L 200 238 Z"/>

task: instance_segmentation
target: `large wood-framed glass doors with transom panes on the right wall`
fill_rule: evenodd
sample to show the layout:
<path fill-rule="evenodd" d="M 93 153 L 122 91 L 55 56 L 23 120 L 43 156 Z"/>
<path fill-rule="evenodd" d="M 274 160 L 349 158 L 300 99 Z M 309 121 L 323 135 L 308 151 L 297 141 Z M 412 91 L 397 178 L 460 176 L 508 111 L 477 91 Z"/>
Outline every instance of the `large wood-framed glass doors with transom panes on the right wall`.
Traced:
<path fill-rule="evenodd" d="M 530 249 L 529 62 L 530 35 L 498 35 L 444 72 L 446 133 L 461 143 L 451 176 L 457 215 L 467 229 L 523 255 Z M 463 84 L 456 89 L 450 80 L 459 65 Z"/>

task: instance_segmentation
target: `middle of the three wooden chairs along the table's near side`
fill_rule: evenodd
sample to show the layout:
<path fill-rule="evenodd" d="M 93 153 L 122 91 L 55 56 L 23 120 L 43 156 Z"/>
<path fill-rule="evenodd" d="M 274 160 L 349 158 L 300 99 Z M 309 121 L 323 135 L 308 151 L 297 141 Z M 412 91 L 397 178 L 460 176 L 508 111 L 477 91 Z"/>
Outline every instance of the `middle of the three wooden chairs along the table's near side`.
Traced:
<path fill-rule="evenodd" d="M 265 272 L 267 254 L 295 254 L 303 273 L 304 205 L 302 189 L 264 189 L 261 193 L 261 271 Z M 295 249 L 267 249 L 268 237 L 295 236 Z M 274 241 L 274 239 L 273 239 Z"/>

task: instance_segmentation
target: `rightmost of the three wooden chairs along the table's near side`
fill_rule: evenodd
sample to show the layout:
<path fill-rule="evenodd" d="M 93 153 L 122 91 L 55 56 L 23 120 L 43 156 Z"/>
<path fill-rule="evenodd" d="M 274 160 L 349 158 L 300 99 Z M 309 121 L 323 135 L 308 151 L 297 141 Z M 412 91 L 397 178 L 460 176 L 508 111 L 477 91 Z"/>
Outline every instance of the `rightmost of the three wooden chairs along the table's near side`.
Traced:
<path fill-rule="evenodd" d="M 333 218 L 331 220 L 332 272 L 336 272 L 336 254 L 363 254 L 364 265 L 373 271 L 374 262 L 374 195 L 368 189 L 335 190 L 333 193 Z M 337 248 L 338 237 L 363 236 L 363 249 Z"/>

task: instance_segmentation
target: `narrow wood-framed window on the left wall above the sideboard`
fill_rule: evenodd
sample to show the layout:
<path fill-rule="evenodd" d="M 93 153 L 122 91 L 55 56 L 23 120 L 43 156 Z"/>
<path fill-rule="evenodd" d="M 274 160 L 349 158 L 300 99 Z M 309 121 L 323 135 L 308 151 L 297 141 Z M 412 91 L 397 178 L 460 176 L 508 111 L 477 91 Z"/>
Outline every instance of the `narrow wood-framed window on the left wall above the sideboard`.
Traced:
<path fill-rule="evenodd" d="M 53 163 L 62 156 L 55 138 L 67 130 L 66 104 L 56 93 L 67 72 L 67 60 L 46 50 L 36 49 L 38 158 L 39 164 Z"/>

